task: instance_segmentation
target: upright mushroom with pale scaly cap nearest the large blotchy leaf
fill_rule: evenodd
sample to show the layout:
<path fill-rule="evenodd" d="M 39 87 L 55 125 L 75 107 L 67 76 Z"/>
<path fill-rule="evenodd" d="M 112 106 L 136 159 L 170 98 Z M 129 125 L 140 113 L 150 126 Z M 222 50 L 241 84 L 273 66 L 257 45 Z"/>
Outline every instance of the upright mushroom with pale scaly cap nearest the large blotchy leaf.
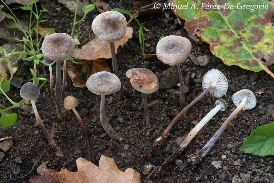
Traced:
<path fill-rule="evenodd" d="M 182 36 L 163 37 L 156 46 L 156 54 L 159 60 L 170 66 L 177 66 L 180 79 L 180 106 L 185 106 L 184 81 L 180 64 L 183 63 L 191 52 L 190 41 Z"/>

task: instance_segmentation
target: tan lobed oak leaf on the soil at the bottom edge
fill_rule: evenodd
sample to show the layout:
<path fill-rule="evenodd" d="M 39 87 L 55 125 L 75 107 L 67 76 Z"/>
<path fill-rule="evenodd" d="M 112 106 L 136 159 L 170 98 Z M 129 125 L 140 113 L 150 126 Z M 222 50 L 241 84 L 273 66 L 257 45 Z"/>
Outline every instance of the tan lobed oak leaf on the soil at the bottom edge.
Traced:
<path fill-rule="evenodd" d="M 114 159 L 102 155 L 99 167 L 92 162 L 78 158 L 76 160 L 77 172 L 62 168 L 60 172 L 43 167 L 45 175 L 30 179 L 30 183 L 140 183 L 141 175 L 128 168 L 125 172 L 118 169 Z"/>

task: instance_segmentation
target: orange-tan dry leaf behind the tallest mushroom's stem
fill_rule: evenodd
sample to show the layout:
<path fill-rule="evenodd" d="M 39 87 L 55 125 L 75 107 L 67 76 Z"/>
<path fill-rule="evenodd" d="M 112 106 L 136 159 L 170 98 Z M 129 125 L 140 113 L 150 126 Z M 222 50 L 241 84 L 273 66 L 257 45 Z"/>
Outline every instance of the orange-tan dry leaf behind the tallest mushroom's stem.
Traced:
<path fill-rule="evenodd" d="M 128 39 L 132 38 L 132 34 L 132 27 L 127 27 L 127 32 L 124 38 L 114 43 L 116 53 L 118 52 L 119 46 L 124 45 L 128 41 Z M 88 42 L 86 45 L 82 46 L 82 49 L 76 48 L 72 56 L 78 59 L 85 60 L 95 60 L 99 58 L 110 59 L 111 52 L 109 43 L 102 41 L 98 37 L 96 37 L 92 41 Z"/>

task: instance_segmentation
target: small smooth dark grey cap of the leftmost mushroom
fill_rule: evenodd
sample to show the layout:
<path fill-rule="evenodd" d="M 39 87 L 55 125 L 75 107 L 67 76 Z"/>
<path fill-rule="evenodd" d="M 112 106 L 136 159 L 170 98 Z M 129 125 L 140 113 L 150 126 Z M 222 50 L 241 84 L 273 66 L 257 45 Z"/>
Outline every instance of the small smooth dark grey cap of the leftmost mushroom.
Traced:
<path fill-rule="evenodd" d="M 36 84 L 29 82 L 21 87 L 20 95 L 25 100 L 37 100 L 40 95 L 40 90 Z"/>

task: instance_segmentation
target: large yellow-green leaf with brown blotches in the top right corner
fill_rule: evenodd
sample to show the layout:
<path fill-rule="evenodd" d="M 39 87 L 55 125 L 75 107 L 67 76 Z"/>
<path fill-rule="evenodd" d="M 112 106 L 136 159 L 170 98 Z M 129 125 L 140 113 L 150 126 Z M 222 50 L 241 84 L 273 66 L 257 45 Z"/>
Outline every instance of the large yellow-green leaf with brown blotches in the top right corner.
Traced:
<path fill-rule="evenodd" d="M 255 72 L 265 70 L 274 78 L 267 68 L 274 63 L 273 1 L 173 0 L 173 3 L 177 5 L 174 13 L 186 20 L 184 26 L 189 37 L 199 41 L 198 36 L 209 43 L 211 52 L 224 64 Z M 183 8 L 183 5 L 188 6 Z"/>

